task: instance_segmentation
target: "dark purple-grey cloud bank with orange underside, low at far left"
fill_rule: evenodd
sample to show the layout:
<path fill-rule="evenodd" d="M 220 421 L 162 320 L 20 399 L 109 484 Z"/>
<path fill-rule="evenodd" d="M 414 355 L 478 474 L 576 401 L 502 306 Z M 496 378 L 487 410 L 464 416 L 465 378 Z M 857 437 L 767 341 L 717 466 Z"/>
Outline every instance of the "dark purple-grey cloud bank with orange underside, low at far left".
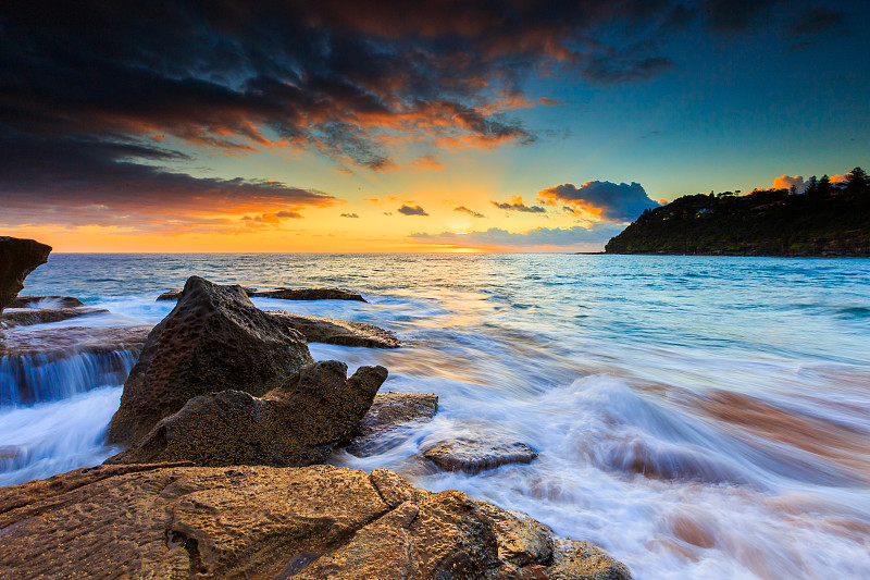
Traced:
<path fill-rule="evenodd" d="M 259 220 L 251 218 L 261 222 L 270 215 L 273 221 L 298 218 L 293 209 L 337 201 L 328 194 L 279 182 L 196 177 L 147 164 L 182 159 L 177 152 L 144 143 L 2 135 L 0 224 L 161 230 L 167 224 L 213 224 L 210 215 L 220 213 L 270 210 Z"/>

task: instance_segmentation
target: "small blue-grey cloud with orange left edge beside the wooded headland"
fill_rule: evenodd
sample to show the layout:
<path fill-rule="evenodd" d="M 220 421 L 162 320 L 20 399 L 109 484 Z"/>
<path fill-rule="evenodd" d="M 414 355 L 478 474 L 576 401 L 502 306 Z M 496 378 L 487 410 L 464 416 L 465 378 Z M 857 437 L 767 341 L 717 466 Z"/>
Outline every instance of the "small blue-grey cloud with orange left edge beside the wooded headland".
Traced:
<path fill-rule="evenodd" d="M 576 213 L 576 209 L 583 209 L 611 222 L 632 221 L 645 209 L 658 206 L 639 183 L 586 182 L 580 187 L 566 183 L 538 192 L 538 200 L 551 206 L 567 203 L 563 210 Z"/>

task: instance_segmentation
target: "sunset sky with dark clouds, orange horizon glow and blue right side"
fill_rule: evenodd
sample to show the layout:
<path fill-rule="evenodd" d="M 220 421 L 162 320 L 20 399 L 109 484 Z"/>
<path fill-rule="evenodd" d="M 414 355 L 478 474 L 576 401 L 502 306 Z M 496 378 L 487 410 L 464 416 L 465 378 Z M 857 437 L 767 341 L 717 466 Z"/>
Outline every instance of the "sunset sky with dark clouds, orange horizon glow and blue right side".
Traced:
<path fill-rule="evenodd" d="M 0 234 L 55 251 L 598 251 L 870 166 L 870 2 L 8 2 Z"/>

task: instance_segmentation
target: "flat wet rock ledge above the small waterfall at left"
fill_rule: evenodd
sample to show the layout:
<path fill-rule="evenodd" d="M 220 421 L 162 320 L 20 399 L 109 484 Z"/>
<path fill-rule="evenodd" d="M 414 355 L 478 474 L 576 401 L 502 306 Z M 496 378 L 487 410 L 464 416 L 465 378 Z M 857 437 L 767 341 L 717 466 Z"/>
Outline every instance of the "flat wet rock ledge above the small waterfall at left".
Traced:
<path fill-rule="evenodd" d="M 0 335 L 0 357 L 40 356 L 42 360 L 69 357 L 71 354 L 109 354 L 116 350 L 139 350 L 151 326 L 69 326 L 30 329 L 17 326 Z"/>

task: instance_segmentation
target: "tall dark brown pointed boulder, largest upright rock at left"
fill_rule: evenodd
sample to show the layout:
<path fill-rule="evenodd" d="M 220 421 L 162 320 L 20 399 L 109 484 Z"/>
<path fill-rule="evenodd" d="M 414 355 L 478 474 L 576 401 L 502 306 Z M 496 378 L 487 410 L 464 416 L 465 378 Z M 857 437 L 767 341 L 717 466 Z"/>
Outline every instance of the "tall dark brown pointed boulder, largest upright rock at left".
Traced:
<path fill-rule="evenodd" d="M 311 362 L 304 337 L 254 307 L 241 286 L 191 276 L 148 335 L 108 442 L 140 440 L 195 396 L 225 390 L 260 396 Z"/>

